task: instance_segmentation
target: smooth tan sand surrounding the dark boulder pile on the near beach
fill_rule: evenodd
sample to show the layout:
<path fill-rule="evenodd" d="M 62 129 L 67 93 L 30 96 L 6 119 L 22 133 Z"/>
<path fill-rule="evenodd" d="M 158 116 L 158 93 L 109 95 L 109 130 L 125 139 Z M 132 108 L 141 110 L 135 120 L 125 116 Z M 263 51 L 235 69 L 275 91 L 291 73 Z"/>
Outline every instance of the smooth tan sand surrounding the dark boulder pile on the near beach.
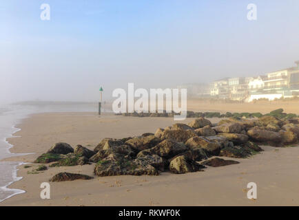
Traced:
<path fill-rule="evenodd" d="M 183 123 L 190 122 L 189 118 Z M 218 119 L 212 119 L 217 122 Z M 96 113 L 43 113 L 31 115 L 17 127 L 21 131 L 8 141 L 12 153 L 32 153 L 5 161 L 32 162 L 56 142 L 73 147 L 82 144 L 93 149 L 104 137 L 129 137 L 174 124 L 173 118 L 132 118 Z M 96 177 L 94 164 L 49 168 L 30 174 L 19 166 L 18 176 L 10 188 L 25 190 L 0 203 L 0 206 L 298 206 L 299 147 L 262 146 L 262 153 L 240 164 L 203 172 L 159 176 Z M 59 172 L 91 175 L 91 180 L 51 182 L 51 199 L 40 198 L 40 184 Z M 247 199 L 247 184 L 258 186 L 258 199 Z"/>

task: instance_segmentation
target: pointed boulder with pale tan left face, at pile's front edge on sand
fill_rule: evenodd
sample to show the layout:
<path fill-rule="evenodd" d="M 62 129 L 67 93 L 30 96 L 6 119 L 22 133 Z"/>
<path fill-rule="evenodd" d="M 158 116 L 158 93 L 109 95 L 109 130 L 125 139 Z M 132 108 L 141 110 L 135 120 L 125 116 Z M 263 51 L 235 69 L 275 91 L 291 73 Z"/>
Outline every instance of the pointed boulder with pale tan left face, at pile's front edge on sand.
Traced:
<path fill-rule="evenodd" d="M 175 157 L 169 164 L 169 170 L 176 174 L 197 172 L 203 168 L 205 168 L 205 166 L 196 163 L 184 155 Z"/>

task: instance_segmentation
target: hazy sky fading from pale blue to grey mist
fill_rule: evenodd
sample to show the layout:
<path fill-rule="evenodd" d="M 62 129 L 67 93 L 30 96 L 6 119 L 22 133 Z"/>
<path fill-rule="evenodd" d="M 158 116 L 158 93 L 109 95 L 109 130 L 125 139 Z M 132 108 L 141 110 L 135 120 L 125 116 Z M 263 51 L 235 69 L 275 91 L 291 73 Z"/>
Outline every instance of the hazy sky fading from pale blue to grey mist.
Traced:
<path fill-rule="evenodd" d="M 257 76 L 299 60 L 298 27 L 298 0 L 1 1 L 0 102 Z"/>

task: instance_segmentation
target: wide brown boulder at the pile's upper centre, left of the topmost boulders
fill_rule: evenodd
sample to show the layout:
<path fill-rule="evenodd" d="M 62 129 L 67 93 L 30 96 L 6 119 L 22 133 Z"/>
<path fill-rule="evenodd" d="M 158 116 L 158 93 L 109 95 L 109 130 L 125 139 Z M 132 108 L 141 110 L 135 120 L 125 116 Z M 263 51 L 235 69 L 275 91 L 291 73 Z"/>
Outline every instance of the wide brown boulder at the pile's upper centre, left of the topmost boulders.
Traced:
<path fill-rule="evenodd" d="M 196 136 L 192 130 L 172 130 L 165 129 L 161 135 L 161 140 L 173 139 L 176 142 L 186 142 L 190 137 Z"/>

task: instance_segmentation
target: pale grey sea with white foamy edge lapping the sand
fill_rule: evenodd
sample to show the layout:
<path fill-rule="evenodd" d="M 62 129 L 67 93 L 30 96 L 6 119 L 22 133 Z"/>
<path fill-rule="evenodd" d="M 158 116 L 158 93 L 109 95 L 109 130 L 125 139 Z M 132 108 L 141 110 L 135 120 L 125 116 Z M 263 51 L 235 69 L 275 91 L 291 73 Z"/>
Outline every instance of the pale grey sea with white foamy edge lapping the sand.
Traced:
<path fill-rule="evenodd" d="M 98 111 L 97 108 L 96 103 L 89 102 L 20 102 L 17 104 L 0 104 L 0 160 L 23 155 L 10 153 L 9 149 L 12 148 L 12 145 L 6 139 L 13 137 L 13 134 L 20 130 L 15 127 L 16 124 L 21 123 L 21 120 L 27 118 L 30 114 L 46 112 L 96 112 Z M 109 110 L 103 108 L 102 111 L 106 112 Z M 0 162 L 0 202 L 25 192 L 20 189 L 8 188 L 14 181 L 22 178 L 17 177 L 17 166 L 21 164 L 22 162 Z"/>

